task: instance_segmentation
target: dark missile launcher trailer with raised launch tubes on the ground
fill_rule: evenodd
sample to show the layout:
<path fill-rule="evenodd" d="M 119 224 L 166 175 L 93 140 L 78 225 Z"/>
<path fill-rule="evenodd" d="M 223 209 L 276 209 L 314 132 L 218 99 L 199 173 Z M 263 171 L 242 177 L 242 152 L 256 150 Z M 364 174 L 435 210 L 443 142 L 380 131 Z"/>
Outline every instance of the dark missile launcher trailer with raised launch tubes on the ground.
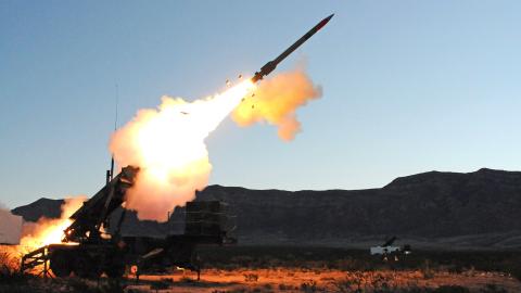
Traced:
<path fill-rule="evenodd" d="M 185 208 L 185 231 L 164 237 L 125 235 L 122 231 L 126 209 L 123 208 L 115 229 L 107 229 L 110 215 L 125 203 L 125 193 L 135 183 L 139 168 L 127 166 L 111 179 L 72 216 L 73 221 L 64 230 L 62 243 L 50 244 L 33 251 L 22 258 L 21 269 L 28 271 L 42 265 L 42 273 L 49 270 L 56 277 L 71 273 L 97 278 L 103 272 L 119 278 L 125 268 L 138 271 L 151 266 L 177 266 L 201 272 L 196 245 L 230 244 L 226 204 L 219 201 L 194 201 Z M 111 227 L 113 228 L 113 227 Z M 104 231 L 112 230 L 111 233 Z M 139 273 L 139 272 L 138 272 Z"/>

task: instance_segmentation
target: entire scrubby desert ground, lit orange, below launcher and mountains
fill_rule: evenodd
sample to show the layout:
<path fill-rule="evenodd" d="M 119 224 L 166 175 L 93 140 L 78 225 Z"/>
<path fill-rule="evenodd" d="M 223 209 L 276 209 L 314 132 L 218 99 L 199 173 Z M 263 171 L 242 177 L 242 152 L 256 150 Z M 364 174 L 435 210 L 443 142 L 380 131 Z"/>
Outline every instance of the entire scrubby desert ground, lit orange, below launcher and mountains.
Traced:
<path fill-rule="evenodd" d="M 155 268 L 139 280 L 0 276 L 0 292 L 521 292 L 517 252 L 414 252 L 384 262 L 326 247 L 200 250 L 196 273 Z"/>

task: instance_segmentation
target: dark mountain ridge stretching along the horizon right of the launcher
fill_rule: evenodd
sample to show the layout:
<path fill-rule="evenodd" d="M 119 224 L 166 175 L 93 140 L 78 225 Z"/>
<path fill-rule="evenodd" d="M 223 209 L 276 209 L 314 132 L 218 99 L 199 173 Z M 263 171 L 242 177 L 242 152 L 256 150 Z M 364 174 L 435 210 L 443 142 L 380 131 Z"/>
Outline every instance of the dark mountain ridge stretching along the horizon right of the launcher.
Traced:
<path fill-rule="evenodd" d="M 212 199 L 230 204 L 230 214 L 237 216 L 234 232 L 244 244 L 367 246 L 397 235 L 422 246 L 521 246 L 519 171 L 430 171 L 397 178 L 381 189 L 355 191 L 209 186 L 198 194 L 198 200 Z M 29 206 L 37 208 L 38 202 Z M 168 229 L 155 224 L 136 229 L 139 225 L 132 215 L 125 229 Z"/>

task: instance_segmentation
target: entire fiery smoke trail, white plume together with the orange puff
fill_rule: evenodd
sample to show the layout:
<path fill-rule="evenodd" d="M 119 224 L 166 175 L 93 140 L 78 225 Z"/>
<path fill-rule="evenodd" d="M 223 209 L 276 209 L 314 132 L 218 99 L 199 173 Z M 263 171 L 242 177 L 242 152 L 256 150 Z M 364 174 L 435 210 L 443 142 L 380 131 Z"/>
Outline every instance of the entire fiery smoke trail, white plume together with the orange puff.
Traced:
<path fill-rule="evenodd" d="M 157 109 L 139 111 L 111 138 L 110 150 L 118 166 L 140 167 L 125 207 L 137 211 L 140 219 L 166 220 L 168 212 L 207 186 L 212 164 L 204 140 L 226 116 L 233 112 L 241 126 L 276 125 L 279 137 L 289 141 L 301 130 L 296 109 L 320 95 L 320 88 L 296 69 L 263 81 L 258 90 L 245 80 L 191 103 L 163 97 Z"/>

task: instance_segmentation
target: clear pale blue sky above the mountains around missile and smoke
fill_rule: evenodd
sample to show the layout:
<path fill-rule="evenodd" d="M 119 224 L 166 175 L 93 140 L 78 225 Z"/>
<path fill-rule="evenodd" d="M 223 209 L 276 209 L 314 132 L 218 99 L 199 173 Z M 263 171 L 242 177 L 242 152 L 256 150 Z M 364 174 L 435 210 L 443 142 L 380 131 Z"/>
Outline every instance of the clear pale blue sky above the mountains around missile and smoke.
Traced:
<path fill-rule="evenodd" d="M 306 60 L 322 99 L 276 128 L 226 120 L 211 183 L 379 188 L 428 170 L 521 169 L 520 1 L 0 1 L 0 202 L 92 195 L 114 124 Z"/>

